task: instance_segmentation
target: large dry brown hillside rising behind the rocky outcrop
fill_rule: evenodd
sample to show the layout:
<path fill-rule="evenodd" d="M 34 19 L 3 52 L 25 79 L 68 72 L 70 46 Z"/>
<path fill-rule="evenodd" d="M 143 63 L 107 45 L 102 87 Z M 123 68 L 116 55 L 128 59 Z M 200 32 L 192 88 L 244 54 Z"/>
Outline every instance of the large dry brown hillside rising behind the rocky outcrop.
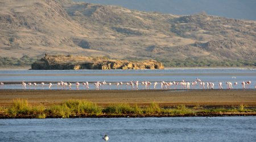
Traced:
<path fill-rule="evenodd" d="M 0 56 L 256 60 L 256 22 L 68 0 L 0 1 Z"/>

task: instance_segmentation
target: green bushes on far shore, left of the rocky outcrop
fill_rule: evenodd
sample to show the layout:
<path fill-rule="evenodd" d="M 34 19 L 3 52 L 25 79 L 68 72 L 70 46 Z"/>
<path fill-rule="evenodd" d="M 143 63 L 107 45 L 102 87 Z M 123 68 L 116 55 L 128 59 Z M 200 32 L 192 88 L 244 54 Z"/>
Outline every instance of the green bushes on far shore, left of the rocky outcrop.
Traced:
<path fill-rule="evenodd" d="M 5 66 L 31 66 L 33 62 L 38 60 L 37 57 L 28 57 L 27 55 L 24 55 L 20 58 L 16 57 L 0 57 L 0 67 Z"/>

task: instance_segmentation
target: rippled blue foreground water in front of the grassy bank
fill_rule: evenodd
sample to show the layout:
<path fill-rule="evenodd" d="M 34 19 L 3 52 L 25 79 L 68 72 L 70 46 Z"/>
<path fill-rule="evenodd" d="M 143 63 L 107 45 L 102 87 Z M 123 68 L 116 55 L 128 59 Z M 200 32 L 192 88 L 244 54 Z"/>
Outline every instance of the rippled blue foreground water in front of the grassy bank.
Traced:
<path fill-rule="evenodd" d="M 0 141 L 256 141 L 256 117 L 0 119 Z"/>

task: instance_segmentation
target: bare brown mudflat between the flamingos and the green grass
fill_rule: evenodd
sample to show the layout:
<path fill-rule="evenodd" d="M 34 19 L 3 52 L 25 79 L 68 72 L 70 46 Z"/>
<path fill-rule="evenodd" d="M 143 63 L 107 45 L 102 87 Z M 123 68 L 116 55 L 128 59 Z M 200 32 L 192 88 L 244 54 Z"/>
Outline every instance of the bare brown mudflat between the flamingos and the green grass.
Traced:
<path fill-rule="evenodd" d="M 112 103 L 144 106 L 151 102 L 160 106 L 256 106 L 256 90 L 0 90 L 0 106 L 9 106 L 14 99 L 27 99 L 32 105 L 82 99 L 100 106 Z"/>

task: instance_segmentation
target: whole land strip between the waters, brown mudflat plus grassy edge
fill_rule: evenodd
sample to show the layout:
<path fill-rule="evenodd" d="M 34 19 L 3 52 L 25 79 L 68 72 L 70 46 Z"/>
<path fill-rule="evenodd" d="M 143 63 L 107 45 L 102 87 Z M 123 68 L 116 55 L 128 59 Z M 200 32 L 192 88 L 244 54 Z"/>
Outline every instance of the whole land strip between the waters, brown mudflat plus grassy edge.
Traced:
<path fill-rule="evenodd" d="M 195 116 L 256 116 L 256 90 L 0 90 L 2 119 Z"/>

